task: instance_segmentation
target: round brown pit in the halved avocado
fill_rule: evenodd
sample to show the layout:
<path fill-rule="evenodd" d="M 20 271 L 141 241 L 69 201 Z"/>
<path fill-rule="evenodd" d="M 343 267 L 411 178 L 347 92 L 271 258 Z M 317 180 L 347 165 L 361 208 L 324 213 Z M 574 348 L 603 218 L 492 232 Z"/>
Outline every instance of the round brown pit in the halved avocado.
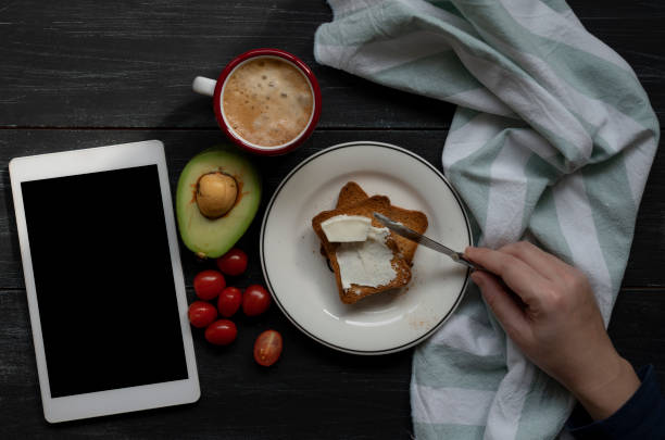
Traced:
<path fill-rule="evenodd" d="M 238 183 L 222 172 L 202 175 L 197 183 L 197 205 L 201 214 L 215 219 L 228 213 L 238 198 Z"/>

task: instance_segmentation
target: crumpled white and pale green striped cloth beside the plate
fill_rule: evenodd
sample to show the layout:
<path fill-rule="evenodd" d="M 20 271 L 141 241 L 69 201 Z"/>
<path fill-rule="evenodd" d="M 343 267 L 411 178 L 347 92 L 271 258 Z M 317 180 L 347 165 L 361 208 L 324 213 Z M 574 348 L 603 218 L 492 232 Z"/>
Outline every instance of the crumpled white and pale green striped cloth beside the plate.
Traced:
<path fill-rule="evenodd" d="M 329 3 L 316 60 L 457 104 L 443 168 L 479 244 L 527 237 L 578 266 L 607 322 L 660 134 L 630 66 L 563 0 Z M 556 437 L 574 402 L 472 287 L 416 350 L 411 403 L 418 439 L 503 440 Z"/>

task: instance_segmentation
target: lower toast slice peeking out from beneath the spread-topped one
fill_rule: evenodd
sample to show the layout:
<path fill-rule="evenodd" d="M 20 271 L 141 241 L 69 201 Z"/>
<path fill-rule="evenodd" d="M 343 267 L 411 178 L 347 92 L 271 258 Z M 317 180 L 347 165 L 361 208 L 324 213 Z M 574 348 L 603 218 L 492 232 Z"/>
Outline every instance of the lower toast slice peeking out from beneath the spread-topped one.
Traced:
<path fill-rule="evenodd" d="M 368 198 L 367 193 L 357 185 L 355 181 L 349 181 L 347 185 L 342 187 L 339 191 L 339 197 L 337 199 L 336 209 L 346 209 L 353 206 L 355 204 L 362 203 L 364 200 Z M 390 205 L 387 213 L 381 212 L 381 214 L 387 217 L 401 223 L 415 230 L 418 234 L 425 234 L 427 230 L 427 216 L 421 211 L 410 211 L 403 208 Z M 394 241 L 400 249 L 401 255 L 406 260 L 409 265 L 413 265 L 413 256 L 415 254 L 416 248 L 418 243 L 415 241 L 411 241 L 404 237 L 400 237 L 397 234 L 392 235 Z"/>

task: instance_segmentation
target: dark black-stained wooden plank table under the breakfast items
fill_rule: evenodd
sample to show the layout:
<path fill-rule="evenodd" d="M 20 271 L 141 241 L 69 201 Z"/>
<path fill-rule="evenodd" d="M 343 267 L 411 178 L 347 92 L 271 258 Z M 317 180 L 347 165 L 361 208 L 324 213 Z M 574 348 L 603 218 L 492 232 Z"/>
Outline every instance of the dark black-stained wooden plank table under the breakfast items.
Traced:
<path fill-rule="evenodd" d="M 665 3 L 586 0 L 573 7 L 589 30 L 633 66 L 656 113 L 663 116 Z M 240 318 L 238 340 L 227 349 L 210 347 L 201 335 L 195 335 L 202 390 L 196 404 L 53 426 L 41 413 L 11 203 L 11 158 L 161 139 L 175 189 L 180 169 L 193 154 L 224 141 L 210 100 L 191 92 L 191 79 L 196 75 L 215 77 L 242 51 L 277 47 L 313 67 L 322 86 L 324 111 L 314 136 L 297 152 L 258 160 L 265 179 L 263 206 L 297 163 L 342 141 L 397 143 L 441 167 L 453 106 L 317 65 L 312 54 L 314 30 L 330 20 L 323 0 L 0 2 L 2 437 L 411 436 L 411 351 L 380 357 L 338 353 L 302 335 L 277 307 L 260 319 Z M 653 363 L 662 382 L 664 166 L 665 155 L 658 153 L 610 326 L 620 353 L 638 366 Z M 239 286 L 262 282 L 259 228 L 255 221 L 240 241 L 251 263 Z M 183 264 L 191 299 L 191 279 L 202 266 L 188 252 L 183 252 Z M 250 354 L 253 339 L 266 327 L 281 331 L 286 343 L 283 359 L 269 369 L 256 366 Z"/>

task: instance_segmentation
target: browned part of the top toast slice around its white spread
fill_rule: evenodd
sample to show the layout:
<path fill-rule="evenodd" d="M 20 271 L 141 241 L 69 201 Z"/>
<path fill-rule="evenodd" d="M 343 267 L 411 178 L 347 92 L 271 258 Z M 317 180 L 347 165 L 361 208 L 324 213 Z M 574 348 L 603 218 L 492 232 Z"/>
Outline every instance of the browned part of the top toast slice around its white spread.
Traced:
<path fill-rule="evenodd" d="M 339 299 L 346 304 L 353 304 L 359 300 L 368 297 L 371 294 L 379 293 L 389 289 L 405 286 L 411 280 L 411 267 L 409 263 L 400 255 L 400 249 L 397 246 L 397 241 L 393 235 L 390 234 L 386 239 L 386 246 L 392 251 L 392 260 L 390 264 L 396 272 L 396 276 L 387 285 L 372 287 L 372 286 L 359 286 L 351 285 L 350 288 L 344 289 L 341 282 L 341 274 L 339 263 L 337 261 L 337 249 L 340 243 L 329 242 L 326 234 L 323 231 L 321 224 L 328 218 L 337 215 L 363 215 L 372 219 L 372 226 L 382 227 L 382 225 L 373 218 L 373 212 L 379 212 L 384 215 L 389 215 L 390 212 L 390 199 L 385 196 L 374 196 L 365 198 L 359 203 L 352 204 L 347 208 L 339 208 L 330 211 L 323 211 L 312 218 L 312 228 L 321 239 L 324 250 L 330 260 L 330 266 L 335 272 L 335 279 L 337 281 L 337 289 L 339 291 Z"/>

